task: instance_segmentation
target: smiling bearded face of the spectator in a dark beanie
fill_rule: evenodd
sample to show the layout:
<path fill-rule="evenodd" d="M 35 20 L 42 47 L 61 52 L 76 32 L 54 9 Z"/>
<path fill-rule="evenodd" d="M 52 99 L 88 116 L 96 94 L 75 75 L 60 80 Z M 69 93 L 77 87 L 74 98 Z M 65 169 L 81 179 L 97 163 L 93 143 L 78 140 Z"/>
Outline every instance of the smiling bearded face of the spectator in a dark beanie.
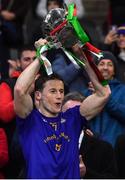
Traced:
<path fill-rule="evenodd" d="M 113 79 L 115 72 L 114 72 L 114 65 L 111 60 L 103 59 L 98 64 L 98 69 L 102 73 L 105 80 Z"/>

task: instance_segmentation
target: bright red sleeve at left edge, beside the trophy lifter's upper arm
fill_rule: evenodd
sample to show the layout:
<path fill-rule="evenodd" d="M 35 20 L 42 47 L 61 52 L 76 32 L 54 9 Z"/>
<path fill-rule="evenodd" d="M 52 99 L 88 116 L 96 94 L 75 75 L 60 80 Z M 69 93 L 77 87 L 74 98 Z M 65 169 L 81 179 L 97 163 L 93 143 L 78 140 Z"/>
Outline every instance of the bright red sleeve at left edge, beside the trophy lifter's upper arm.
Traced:
<path fill-rule="evenodd" d="M 15 117 L 12 92 L 7 83 L 0 85 L 0 119 L 10 122 Z"/>

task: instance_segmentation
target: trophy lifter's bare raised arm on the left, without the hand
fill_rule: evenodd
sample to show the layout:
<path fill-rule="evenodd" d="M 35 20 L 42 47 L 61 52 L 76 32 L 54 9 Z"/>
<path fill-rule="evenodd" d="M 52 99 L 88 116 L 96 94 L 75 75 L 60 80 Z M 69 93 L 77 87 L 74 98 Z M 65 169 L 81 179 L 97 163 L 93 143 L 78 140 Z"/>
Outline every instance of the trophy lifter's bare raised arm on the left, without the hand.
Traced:
<path fill-rule="evenodd" d="M 19 76 L 14 88 L 14 108 L 16 114 L 25 118 L 33 109 L 33 101 L 29 93 L 32 83 L 40 69 L 39 59 L 35 59 Z"/>

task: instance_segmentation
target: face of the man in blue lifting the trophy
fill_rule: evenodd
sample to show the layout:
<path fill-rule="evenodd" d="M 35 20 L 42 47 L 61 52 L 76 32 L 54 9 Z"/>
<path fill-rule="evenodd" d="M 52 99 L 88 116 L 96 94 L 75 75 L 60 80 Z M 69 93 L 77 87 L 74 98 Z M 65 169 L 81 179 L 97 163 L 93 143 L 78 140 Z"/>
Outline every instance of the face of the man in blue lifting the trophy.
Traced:
<path fill-rule="evenodd" d="M 64 84 L 61 80 L 49 80 L 40 92 L 39 108 L 41 112 L 48 116 L 57 116 L 62 108 L 64 98 Z"/>

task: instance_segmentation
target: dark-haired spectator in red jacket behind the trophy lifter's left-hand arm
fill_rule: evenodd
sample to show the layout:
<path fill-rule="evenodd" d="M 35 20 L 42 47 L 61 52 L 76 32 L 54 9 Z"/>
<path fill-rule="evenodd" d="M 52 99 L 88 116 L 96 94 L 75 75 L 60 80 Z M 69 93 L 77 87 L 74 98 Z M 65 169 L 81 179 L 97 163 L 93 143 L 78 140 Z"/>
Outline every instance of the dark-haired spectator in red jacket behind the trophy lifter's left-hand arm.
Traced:
<path fill-rule="evenodd" d="M 21 71 L 23 71 L 31 62 L 33 62 L 35 57 L 36 57 L 36 51 L 33 48 L 30 49 L 30 47 L 25 47 L 21 50 L 20 62 L 18 65 L 20 67 L 17 67 L 18 70 L 20 68 L 20 71 L 17 71 L 16 66 L 15 66 L 15 71 L 17 71 L 17 77 L 20 75 Z M 11 74 L 10 78 L 13 78 L 13 74 L 15 73 L 15 71 Z M 17 77 L 14 76 L 14 78 L 17 78 Z M 6 81 L 8 82 L 8 80 L 6 80 Z M 11 93 L 11 88 L 8 87 L 8 84 L 6 84 L 6 81 L 5 82 L 3 81 L 0 84 L 0 92 L 1 92 L 0 93 L 0 100 L 1 100 L 1 103 L 0 103 L 0 119 L 1 119 L 1 121 L 10 122 L 11 118 L 13 119 L 13 117 L 15 116 L 15 113 L 14 114 L 12 113 L 13 110 L 7 110 L 6 109 L 6 108 L 9 108 L 9 106 L 13 109 L 13 105 L 12 105 L 13 102 L 11 104 L 13 93 Z M 6 104 L 6 101 L 8 102 L 7 103 L 8 105 Z M 10 114 L 6 113 L 6 112 L 10 112 Z"/>

